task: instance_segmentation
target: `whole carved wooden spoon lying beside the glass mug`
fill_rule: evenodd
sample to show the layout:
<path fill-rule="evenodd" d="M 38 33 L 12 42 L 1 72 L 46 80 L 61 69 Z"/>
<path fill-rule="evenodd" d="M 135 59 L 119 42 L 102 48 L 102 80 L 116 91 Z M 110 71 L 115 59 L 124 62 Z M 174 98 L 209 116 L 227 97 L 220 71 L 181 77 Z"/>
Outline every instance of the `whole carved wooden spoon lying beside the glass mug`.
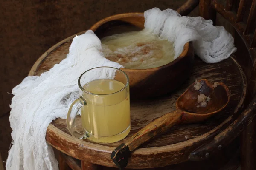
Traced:
<path fill-rule="evenodd" d="M 162 133 L 173 125 L 180 123 L 195 123 L 203 121 L 215 113 L 225 108 L 230 101 L 230 92 L 223 83 L 213 84 L 207 79 L 198 81 L 201 88 L 196 90 L 193 83 L 189 88 L 177 99 L 176 110 L 165 114 L 149 123 L 138 133 L 131 136 L 126 143 L 119 145 L 113 150 L 111 159 L 119 169 L 126 167 L 128 157 L 144 142 L 153 136 Z M 209 96 L 210 100 L 205 107 L 198 103 L 198 95 L 204 94 Z"/>

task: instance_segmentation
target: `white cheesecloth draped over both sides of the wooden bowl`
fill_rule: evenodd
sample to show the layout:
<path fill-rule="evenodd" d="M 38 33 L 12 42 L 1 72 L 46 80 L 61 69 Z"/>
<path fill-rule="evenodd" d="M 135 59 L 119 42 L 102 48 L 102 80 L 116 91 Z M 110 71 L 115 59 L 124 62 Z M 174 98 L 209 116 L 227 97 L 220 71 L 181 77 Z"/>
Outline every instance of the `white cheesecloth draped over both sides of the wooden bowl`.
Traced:
<path fill-rule="evenodd" d="M 236 51 L 231 34 L 212 26 L 211 20 L 180 17 L 171 9 L 153 8 L 144 14 L 145 29 L 174 42 L 175 57 L 188 41 L 207 63 L 220 62 Z M 56 118 L 66 119 L 68 107 L 79 97 L 77 81 L 84 71 L 98 66 L 122 67 L 103 57 L 101 48 L 99 38 L 89 30 L 73 39 L 66 59 L 39 77 L 26 77 L 13 88 L 9 117 L 13 142 L 7 170 L 58 170 L 52 147 L 45 140 L 48 125 Z M 91 74 L 87 79 L 97 76 L 101 75 Z"/>

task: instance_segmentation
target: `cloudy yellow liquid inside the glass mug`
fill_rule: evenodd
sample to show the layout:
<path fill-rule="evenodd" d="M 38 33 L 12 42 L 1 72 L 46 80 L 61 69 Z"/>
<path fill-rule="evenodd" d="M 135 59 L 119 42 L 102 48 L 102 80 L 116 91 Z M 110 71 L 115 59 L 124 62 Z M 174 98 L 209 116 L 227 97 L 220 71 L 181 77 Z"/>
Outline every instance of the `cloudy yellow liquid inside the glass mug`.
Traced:
<path fill-rule="evenodd" d="M 97 79 L 84 85 L 86 91 L 99 94 L 83 96 L 87 105 L 82 108 L 81 120 L 82 126 L 90 133 L 90 140 L 113 143 L 124 139 L 130 132 L 129 88 L 120 91 L 124 87 L 122 82 L 113 79 Z"/>

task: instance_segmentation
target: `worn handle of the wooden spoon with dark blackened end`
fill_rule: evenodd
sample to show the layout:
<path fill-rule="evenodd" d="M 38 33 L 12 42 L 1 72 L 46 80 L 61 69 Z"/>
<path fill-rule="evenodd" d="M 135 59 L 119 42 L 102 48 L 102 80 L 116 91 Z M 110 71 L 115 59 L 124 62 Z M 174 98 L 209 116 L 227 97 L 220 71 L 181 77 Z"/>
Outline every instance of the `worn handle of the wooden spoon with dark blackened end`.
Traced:
<path fill-rule="evenodd" d="M 128 139 L 125 144 L 123 143 L 119 147 L 116 147 L 111 154 L 111 159 L 117 165 L 117 167 L 119 167 L 119 169 L 124 168 L 127 165 L 130 152 L 155 135 L 162 133 L 180 122 L 182 115 L 183 111 L 178 109 L 167 113 L 158 119 L 155 119 L 153 122 L 143 127 L 139 132 L 131 136 L 131 138 Z"/>

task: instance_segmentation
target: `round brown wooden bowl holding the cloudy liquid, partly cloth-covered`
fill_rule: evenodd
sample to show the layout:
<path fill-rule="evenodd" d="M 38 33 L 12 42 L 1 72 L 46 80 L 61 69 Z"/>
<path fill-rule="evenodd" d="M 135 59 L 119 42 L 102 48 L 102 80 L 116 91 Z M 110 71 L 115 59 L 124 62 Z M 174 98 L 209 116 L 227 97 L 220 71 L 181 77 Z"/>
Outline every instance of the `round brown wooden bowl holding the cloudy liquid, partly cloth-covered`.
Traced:
<path fill-rule="evenodd" d="M 138 31 L 144 28 L 143 13 L 117 14 L 100 20 L 90 29 L 101 39 L 113 34 Z M 156 68 L 121 68 L 130 79 L 131 98 L 148 98 L 169 93 L 179 87 L 190 74 L 194 62 L 191 42 L 174 61 Z"/>

